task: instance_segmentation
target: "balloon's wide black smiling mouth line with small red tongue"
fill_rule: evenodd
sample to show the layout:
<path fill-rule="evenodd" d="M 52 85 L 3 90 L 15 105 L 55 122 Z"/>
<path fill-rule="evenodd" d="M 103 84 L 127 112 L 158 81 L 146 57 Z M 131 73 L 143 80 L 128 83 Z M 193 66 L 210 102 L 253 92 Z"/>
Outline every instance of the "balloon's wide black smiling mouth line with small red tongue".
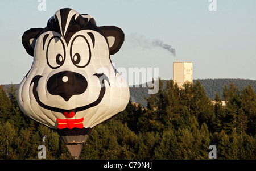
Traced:
<path fill-rule="evenodd" d="M 55 112 L 60 112 L 61 114 L 63 114 L 67 118 L 73 118 L 76 115 L 76 112 L 84 111 L 86 109 L 89 109 L 90 107 L 94 107 L 94 106 L 98 105 L 101 102 L 102 98 L 105 95 L 105 91 L 106 91 L 104 80 L 108 81 L 108 84 L 110 86 L 109 79 L 108 79 L 108 77 L 106 77 L 106 75 L 104 73 L 96 73 L 96 74 L 93 74 L 93 76 L 97 76 L 98 79 L 100 80 L 100 84 L 101 84 L 100 94 L 98 95 L 98 98 L 96 99 L 96 101 L 94 101 L 94 102 L 92 102 L 88 105 L 85 105 L 85 106 L 76 107 L 74 109 L 68 109 L 68 110 L 67 109 L 61 109 L 61 108 L 58 108 L 58 107 L 48 106 L 48 105 L 46 105 L 46 104 L 44 104 L 43 102 L 40 101 L 38 91 L 36 89 L 38 87 L 38 82 L 39 82 L 40 78 L 42 78 L 43 76 L 40 76 L 40 75 L 35 76 L 32 79 L 32 81 L 30 83 L 30 86 L 34 82 L 32 91 L 33 91 L 33 95 L 35 97 L 35 100 L 36 100 L 36 102 L 38 102 L 39 106 L 43 107 L 44 109 L 48 109 L 48 110 L 55 111 Z"/>

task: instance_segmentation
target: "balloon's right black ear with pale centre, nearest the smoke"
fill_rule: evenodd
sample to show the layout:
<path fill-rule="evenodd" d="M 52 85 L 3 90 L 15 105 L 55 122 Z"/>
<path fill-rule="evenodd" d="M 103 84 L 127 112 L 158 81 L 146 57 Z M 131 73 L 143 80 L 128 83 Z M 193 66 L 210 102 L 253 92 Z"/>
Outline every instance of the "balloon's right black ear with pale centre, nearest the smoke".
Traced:
<path fill-rule="evenodd" d="M 115 26 L 101 26 L 100 29 L 108 39 L 110 55 L 117 53 L 125 41 L 122 29 Z"/>

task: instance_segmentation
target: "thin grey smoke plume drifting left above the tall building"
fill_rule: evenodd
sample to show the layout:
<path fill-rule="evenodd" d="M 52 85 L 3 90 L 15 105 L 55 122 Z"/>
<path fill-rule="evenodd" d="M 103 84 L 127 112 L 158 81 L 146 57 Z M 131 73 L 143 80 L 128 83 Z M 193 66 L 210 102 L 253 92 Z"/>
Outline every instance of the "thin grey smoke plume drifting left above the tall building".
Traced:
<path fill-rule="evenodd" d="M 176 50 L 171 47 L 170 44 L 164 43 L 162 40 L 159 39 L 149 39 L 144 35 L 137 35 L 135 33 L 130 34 L 127 38 L 133 43 L 134 45 L 139 45 L 143 48 L 152 48 L 152 47 L 160 47 L 162 49 L 166 49 L 169 51 L 174 57 L 176 57 Z"/>

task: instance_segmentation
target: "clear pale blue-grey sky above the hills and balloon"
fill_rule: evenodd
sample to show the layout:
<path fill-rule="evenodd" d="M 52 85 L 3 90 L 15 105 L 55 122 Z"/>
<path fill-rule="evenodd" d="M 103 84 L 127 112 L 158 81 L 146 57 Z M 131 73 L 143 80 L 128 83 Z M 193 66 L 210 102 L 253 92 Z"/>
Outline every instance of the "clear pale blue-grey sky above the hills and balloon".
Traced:
<path fill-rule="evenodd" d="M 256 79 L 256 1 L 217 0 L 104 0 L 49 1 L 39 11 L 38 0 L 1 1 L 0 84 L 18 84 L 31 68 L 23 48 L 23 32 L 46 27 L 63 7 L 90 14 L 98 26 L 114 25 L 125 32 L 125 43 L 112 56 L 116 68 L 159 68 L 162 79 L 172 78 L 172 62 L 193 62 L 193 78 Z M 159 48 L 145 48 L 144 40 L 162 40 L 176 49 L 176 57 Z"/>

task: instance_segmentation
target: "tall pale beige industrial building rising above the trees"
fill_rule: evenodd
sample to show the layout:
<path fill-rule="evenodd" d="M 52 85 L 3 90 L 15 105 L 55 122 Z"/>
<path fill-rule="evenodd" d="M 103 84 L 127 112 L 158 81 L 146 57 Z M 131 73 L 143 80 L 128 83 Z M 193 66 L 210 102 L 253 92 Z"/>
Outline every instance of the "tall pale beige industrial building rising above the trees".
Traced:
<path fill-rule="evenodd" d="M 174 83 L 181 87 L 184 82 L 193 83 L 193 64 L 192 62 L 174 62 Z"/>

